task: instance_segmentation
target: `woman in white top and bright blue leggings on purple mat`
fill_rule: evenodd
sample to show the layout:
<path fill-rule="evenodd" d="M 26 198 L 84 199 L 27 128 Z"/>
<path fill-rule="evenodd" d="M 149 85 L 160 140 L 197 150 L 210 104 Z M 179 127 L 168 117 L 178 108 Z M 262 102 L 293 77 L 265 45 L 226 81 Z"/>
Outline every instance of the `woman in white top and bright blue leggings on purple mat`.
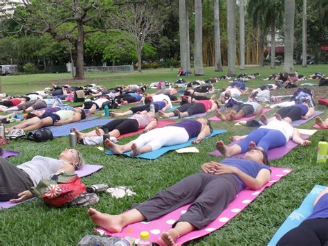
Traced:
<path fill-rule="evenodd" d="M 223 141 L 217 141 L 217 150 L 226 157 L 247 152 L 252 148 L 259 148 L 268 152 L 271 148 L 284 146 L 289 139 L 301 146 L 309 146 L 311 141 L 303 140 L 298 129 L 293 128 L 288 121 L 270 121 L 267 125 L 260 126 L 248 135 L 230 137 L 231 141 L 239 141 L 233 146 L 226 146 Z"/>

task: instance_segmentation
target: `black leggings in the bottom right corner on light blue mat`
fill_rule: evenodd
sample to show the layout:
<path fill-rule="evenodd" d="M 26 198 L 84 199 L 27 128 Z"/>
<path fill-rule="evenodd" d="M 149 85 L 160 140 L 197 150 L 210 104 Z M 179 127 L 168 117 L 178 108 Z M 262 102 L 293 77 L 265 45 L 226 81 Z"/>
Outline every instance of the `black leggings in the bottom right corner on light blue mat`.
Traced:
<path fill-rule="evenodd" d="M 304 220 L 280 238 L 277 245 L 328 245 L 328 218 Z"/>

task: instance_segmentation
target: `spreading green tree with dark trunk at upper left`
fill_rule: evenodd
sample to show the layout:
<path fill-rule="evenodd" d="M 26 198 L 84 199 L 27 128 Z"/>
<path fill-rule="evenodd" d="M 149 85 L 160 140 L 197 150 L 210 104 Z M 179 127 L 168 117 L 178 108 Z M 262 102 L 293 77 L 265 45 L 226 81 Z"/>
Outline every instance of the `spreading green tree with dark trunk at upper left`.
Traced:
<path fill-rule="evenodd" d="M 110 1 L 23 0 L 14 17 L 26 33 L 50 33 L 57 41 L 69 40 L 75 47 L 76 79 L 84 79 L 84 37 L 98 31 L 86 24 L 101 17 Z"/>

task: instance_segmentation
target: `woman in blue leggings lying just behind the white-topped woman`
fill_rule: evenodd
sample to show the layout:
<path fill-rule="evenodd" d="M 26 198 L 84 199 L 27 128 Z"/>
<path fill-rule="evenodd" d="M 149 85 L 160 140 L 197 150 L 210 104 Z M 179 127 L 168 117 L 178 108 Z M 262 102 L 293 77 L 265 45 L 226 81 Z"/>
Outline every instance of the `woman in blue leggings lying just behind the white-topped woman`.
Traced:
<path fill-rule="evenodd" d="M 284 119 L 285 121 L 298 121 L 300 119 L 306 119 L 314 114 L 314 108 L 309 107 L 309 104 L 304 102 L 302 104 L 295 104 L 289 107 L 282 107 L 275 113 L 275 117 L 281 121 Z M 261 118 L 262 123 L 266 125 L 268 120 L 264 117 Z"/>

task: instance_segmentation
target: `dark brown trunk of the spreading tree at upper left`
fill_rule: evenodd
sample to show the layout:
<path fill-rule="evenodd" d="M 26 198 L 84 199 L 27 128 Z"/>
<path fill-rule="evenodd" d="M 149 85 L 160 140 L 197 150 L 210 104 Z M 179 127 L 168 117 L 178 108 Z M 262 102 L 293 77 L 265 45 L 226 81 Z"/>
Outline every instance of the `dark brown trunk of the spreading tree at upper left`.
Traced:
<path fill-rule="evenodd" d="M 75 42 L 75 49 L 76 49 L 75 79 L 84 80 L 84 27 L 82 21 L 78 21 L 78 39 Z"/>

